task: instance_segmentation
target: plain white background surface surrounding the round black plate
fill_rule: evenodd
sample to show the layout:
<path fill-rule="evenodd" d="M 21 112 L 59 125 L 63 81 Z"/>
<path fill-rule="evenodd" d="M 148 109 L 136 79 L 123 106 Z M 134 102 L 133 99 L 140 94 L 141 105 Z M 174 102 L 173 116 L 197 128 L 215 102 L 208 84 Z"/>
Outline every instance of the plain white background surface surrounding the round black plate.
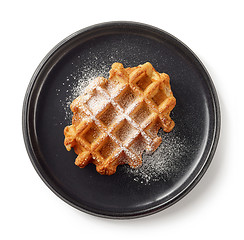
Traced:
<path fill-rule="evenodd" d="M 243 1 L 1 1 L 1 239 L 243 239 Z M 202 60 L 218 91 L 222 127 L 213 162 L 180 202 L 155 215 L 109 220 L 60 200 L 35 172 L 22 137 L 22 103 L 39 62 L 92 24 L 159 27 Z"/>

